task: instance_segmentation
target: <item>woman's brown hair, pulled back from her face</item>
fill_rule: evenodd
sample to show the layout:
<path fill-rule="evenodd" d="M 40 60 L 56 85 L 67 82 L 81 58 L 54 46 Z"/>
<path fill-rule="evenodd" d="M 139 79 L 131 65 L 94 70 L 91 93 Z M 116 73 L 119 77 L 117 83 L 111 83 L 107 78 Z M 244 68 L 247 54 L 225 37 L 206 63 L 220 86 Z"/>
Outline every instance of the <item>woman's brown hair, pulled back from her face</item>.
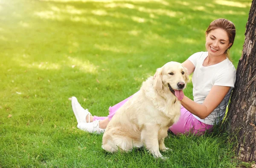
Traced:
<path fill-rule="evenodd" d="M 234 44 L 235 36 L 236 36 L 236 27 L 233 22 L 227 19 L 216 19 L 211 22 L 211 24 L 208 26 L 206 33 L 208 34 L 210 31 L 215 30 L 217 28 L 221 28 L 224 31 L 227 32 L 227 36 L 229 38 L 229 42 L 232 43 L 230 47 L 225 51 L 225 54 L 227 58 L 230 59 L 230 53 L 229 50 Z"/>

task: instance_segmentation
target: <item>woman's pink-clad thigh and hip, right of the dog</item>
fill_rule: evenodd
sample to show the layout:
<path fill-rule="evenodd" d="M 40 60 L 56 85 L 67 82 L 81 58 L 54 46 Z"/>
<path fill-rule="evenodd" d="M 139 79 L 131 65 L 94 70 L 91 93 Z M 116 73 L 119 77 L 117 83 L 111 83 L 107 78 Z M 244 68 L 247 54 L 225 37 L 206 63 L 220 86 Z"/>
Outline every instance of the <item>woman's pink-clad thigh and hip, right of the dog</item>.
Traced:
<path fill-rule="evenodd" d="M 202 123 L 197 120 L 191 112 L 183 106 L 180 108 L 180 119 L 170 126 L 169 130 L 176 134 L 196 134 L 203 135 L 207 130 L 212 129 L 212 125 Z"/>

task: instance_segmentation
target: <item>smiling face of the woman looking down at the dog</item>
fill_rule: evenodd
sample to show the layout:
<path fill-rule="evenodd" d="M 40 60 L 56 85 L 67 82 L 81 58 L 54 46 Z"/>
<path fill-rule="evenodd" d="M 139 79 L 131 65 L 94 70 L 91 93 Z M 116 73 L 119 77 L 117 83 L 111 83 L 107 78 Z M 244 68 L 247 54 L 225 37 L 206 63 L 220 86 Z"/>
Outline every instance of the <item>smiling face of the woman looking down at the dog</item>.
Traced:
<path fill-rule="evenodd" d="M 227 32 L 221 28 L 210 31 L 206 33 L 206 43 L 205 47 L 208 54 L 213 56 L 222 55 L 232 43 L 229 42 Z"/>

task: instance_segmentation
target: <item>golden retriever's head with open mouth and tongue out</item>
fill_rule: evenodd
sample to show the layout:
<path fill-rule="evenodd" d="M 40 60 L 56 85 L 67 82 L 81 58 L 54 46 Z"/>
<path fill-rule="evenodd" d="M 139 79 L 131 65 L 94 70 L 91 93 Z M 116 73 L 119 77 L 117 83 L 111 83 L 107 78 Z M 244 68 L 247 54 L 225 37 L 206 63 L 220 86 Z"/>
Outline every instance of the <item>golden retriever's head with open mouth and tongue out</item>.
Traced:
<path fill-rule="evenodd" d="M 189 81 L 187 69 L 178 62 L 168 62 L 157 69 L 154 88 L 161 92 L 168 88 L 179 100 L 184 97 L 183 89 Z"/>

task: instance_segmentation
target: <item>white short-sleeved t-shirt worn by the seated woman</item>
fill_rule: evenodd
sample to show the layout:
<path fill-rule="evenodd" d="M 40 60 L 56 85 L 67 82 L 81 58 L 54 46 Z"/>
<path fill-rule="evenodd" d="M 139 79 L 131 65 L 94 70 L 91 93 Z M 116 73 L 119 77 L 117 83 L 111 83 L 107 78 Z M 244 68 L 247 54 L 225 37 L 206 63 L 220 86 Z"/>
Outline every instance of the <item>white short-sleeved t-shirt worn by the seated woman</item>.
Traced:
<path fill-rule="evenodd" d="M 221 104 L 219 104 L 207 118 L 200 119 L 194 115 L 194 117 L 201 122 L 214 125 L 219 123 L 225 115 L 231 91 L 236 81 L 236 69 L 228 58 L 218 64 L 204 67 L 203 62 L 207 56 L 208 52 L 198 52 L 189 57 L 189 61 L 195 65 L 195 71 L 192 77 L 194 101 L 198 104 L 202 104 L 213 85 L 231 87 L 227 95 L 221 101 Z"/>

